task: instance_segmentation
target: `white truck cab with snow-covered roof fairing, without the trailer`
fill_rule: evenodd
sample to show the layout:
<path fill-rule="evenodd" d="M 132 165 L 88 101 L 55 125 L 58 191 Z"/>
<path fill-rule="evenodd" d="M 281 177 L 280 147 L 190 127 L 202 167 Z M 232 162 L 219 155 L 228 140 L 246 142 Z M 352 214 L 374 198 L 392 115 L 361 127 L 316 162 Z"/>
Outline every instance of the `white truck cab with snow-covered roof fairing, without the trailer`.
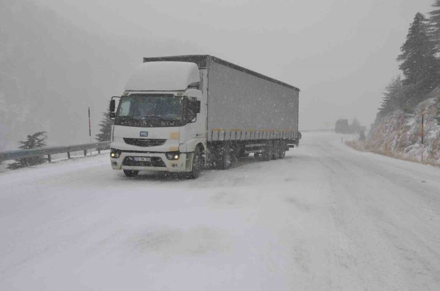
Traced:
<path fill-rule="evenodd" d="M 127 176 L 147 170 L 197 178 L 206 149 L 201 76 L 192 62 L 144 62 L 133 71 L 122 96 L 110 101 L 113 169 Z"/>

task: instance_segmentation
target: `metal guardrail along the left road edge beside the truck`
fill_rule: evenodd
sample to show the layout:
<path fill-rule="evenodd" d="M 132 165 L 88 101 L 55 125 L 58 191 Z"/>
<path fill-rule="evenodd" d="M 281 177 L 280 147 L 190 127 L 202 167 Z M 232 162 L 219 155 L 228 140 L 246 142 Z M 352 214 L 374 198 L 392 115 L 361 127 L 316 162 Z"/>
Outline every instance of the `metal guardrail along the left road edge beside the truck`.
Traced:
<path fill-rule="evenodd" d="M 0 151 L 0 162 L 7 160 L 17 160 L 22 158 L 47 156 L 47 160 L 50 163 L 51 162 L 50 155 L 53 154 L 67 153 L 67 158 L 70 159 L 70 153 L 73 151 L 84 150 L 84 156 L 86 156 L 88 149 L 96 148 L 98 149 L 98 153 L 100 153 L 102 149 L 105 149 L 107 147 L 110 147 L 110 141 L 91 143 L 91 144 L 81 144 L 81 145 L 46 146 L 40 148 Z"/>

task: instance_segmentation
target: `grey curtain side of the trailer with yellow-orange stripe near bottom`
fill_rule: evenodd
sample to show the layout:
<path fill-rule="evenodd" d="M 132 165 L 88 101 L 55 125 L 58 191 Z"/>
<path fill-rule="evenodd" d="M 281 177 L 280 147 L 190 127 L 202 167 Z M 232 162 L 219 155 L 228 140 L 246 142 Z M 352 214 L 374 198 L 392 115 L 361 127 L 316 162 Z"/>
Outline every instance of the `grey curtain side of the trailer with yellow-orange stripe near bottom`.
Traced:
<path fill-rule="evenodd" d="M 208 141 L 295 138 L 297 89 L 208 59 Z"/>

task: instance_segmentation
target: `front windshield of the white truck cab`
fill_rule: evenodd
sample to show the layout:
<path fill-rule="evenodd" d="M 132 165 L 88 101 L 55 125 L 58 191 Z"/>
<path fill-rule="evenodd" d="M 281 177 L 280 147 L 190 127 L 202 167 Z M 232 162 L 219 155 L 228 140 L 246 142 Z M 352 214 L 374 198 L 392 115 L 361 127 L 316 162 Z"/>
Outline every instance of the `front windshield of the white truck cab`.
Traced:
<path fill-rule="evenodd" d="M 182 101 L 183 97 L 176 97 L 172 94 L 123 96 L 119 103 L 117 117 L 179 121 L 182 119 Z"/>

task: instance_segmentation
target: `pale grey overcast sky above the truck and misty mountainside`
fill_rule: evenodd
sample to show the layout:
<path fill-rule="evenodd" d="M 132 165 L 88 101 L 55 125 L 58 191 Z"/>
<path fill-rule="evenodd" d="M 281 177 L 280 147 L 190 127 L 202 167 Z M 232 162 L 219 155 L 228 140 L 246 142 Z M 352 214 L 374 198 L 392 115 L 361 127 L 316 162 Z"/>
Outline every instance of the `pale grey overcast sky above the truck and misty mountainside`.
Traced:
<path fill-rule="evenodd" d="M 147 56 L 210 54 L 297 86 L 300 129 L 324 128 L 338 118 L 354 117 L 370 125 L 385 85 L 399 74 L 396 57 L 410 23 L 417 12 L 431 11 L 433 3 L 36 1 L 103 38 L 140 40 L 149 55 L 132 56 L 139 63 Z M 121 92 L 122 88 L 114 95 Z"/>

